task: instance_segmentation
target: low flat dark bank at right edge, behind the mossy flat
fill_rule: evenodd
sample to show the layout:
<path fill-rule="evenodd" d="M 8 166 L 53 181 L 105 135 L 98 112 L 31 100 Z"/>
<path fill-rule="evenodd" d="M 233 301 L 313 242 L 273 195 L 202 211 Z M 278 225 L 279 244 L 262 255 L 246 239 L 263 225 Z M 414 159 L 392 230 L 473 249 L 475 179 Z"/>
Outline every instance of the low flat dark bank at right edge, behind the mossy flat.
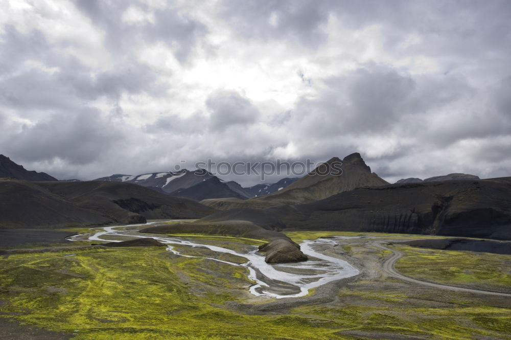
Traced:
<path fill-rule="evenodd" d="M 511 242 L 506 241 L 474 240 L 468 238 L 445 238 L 437 240 L 413 240 L 402 243 L 421 248 L 505 255 L 511 254 Z"/>

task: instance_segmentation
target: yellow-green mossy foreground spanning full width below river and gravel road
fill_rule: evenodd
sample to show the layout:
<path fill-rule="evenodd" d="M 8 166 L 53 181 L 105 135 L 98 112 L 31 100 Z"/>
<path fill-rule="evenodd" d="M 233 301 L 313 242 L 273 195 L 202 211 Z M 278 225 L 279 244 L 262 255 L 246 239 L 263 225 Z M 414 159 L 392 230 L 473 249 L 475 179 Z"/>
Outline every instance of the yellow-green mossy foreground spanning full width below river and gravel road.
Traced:
<path fill-rule="evenodd" d="M 203 248 L 179 250 L 209 255 Z M 340 250 L 368 256 L 371 263 L 387 255 L 355 241 Z M 405 261 L 426 253 L 406 254 Z M 433 257 L 416 260 L 424 268 L 436 266 Z M 254 300 L 247 274 L 243 267 L 179 257 L 159 247 L 17 254 L 0 258 L 5 301 L 0 313 L 73 333 L 75 340 L 332 340 L 363 339 L 367 332 L 511 340 L 511 309 L 501 298 L 422 289 L 389 278 L 346 284 L 332 303 L 247 315 L 224 304 Z"/>

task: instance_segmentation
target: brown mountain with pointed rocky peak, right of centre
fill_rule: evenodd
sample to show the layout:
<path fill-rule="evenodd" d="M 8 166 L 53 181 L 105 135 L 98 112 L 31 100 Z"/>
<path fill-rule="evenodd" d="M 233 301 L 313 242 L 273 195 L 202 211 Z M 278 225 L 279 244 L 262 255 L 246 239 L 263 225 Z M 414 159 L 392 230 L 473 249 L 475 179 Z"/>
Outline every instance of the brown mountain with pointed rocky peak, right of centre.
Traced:
<path fill-rule="evenodd" d="M 281 205 L 296 205 L 314 202 L 343 191 L 359 187 L 373 187 L 388 183 L 371 173 L 360 153 L 352 153 L 343 160 L 337 157 L 322 163 L 316 169 L 296 180 L 296 182 L 270 195 L 248 200 L 236 198 L 206 199 L 206 206 L 219 210 L 234 208 L 268 208 Z"/>

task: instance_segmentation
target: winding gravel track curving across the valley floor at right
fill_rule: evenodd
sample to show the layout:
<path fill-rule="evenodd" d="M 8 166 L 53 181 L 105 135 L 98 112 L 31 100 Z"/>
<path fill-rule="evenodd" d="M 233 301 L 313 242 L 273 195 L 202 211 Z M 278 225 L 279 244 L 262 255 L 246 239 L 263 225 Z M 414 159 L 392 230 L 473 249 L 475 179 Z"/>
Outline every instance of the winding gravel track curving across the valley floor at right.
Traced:
<path fill-rule="evenodd" d="M 475 294 L 485 294 L 485 295 L 496 295 L 496 296 L 511 298 L 511 294 L 508 294 L 508 293 L 501 293 L 501 292 L 497 292 L 497 291 L 478 290 L 478 289 L 470 289 L 470 288 L 462 288 L 462 287 L 456 287 L 456 286 L 449 286 L 449 285 L 446 285 L 446 284 L 421 281 L 421 280 L 416 280 L 416 279 L 412 279 L 410 277 L 407 277 L 407 276 L 399 273 L 399 271 L 397 271 L 396 268 L 394 267 L 394 264 L 401 257 L 403 257 L 404 254 L 402 252 L 400 252 L 400 251 L 397 251 L 395 249 L 391 249 L 391 248 L 388 248 L 388 247 L 384 246 L 383 244 L 381 244 L 381 242 L 383 242 L 383 241 L 375 241 L 375 242 L 373 242 L 373 245 L 378 247 L 378 248 L 381 248 L 383 250 L 392 252 L 392 255 L 390 257 L 388 257 L 387 259 L 385 259 L 383 261 L 383 265 L 382 265 L 384 273 L 387 274 L 388 276 L 391 276 L 393 278 L 400 279 L 400 280 L 403 280 L 403 281 L 407 281 L 407 282 L 410 282 L 410 283 L 420 284 L 420 285 L 428 286 L 428 287 L 432 287 L 432 288 L 449 289 L 449 290 L 454 290 L 454 291 L 462 291 L 462 292 L 475 293 Z"/>

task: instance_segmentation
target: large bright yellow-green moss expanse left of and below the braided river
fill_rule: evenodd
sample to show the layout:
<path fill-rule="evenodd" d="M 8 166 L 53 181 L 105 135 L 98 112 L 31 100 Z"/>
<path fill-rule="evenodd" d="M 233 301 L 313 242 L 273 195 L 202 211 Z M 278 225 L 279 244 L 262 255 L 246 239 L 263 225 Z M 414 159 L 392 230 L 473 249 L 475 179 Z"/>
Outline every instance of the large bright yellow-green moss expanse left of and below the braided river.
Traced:
<path fill-rule="evenodd" d="M 226 309 L 247 297 L 247 269 L 161 248 L 20 254 L 0 268 L 4 317 L 76 340 L 338 338 L 304 316 L 288 323 Z"/>

